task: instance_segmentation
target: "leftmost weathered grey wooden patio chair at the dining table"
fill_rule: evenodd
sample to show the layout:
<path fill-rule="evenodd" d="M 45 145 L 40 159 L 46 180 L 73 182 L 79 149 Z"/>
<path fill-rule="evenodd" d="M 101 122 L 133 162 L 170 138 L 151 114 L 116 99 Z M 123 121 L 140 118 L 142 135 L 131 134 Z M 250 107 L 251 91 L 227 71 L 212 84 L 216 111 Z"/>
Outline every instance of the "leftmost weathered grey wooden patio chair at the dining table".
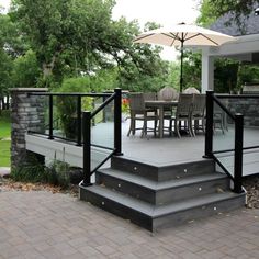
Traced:
<path fill-rule="evenodd" d="M 157 110 L 145 106 L 144 94 L 140 92 L 130 93 L 128 100 L 130 100 L 130 112 L 131 112 L 131 125 L 130 125 L 127 136 L 130 136 L 131 133 L 135 135 L 135 132 L 138 130 L 142 131 L 142 135 L 140 135 L 142 137 L 144 135 L 146 136 L 148 131 L 153 131 L 154 135 L 156 136 L 156 127 L 157 127 L 157 121 L 158 121 Z M 136 126 L 137 121 L 143 122 L 142 127 Z M 148 121 L 154 122 L 153 128 L 147 126 Z"/>

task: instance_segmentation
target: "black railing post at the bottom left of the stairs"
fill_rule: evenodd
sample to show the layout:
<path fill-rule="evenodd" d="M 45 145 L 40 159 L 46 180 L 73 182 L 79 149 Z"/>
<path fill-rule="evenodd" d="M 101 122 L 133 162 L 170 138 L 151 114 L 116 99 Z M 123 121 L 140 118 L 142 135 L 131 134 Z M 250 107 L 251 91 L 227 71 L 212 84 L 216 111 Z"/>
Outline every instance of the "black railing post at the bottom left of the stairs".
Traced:
<path fill-rule="evenodd" d="M 82 185 L 88 187 L 91 184 L 91 112 L 82 113 L 82 132 L 83 132 Z"/>

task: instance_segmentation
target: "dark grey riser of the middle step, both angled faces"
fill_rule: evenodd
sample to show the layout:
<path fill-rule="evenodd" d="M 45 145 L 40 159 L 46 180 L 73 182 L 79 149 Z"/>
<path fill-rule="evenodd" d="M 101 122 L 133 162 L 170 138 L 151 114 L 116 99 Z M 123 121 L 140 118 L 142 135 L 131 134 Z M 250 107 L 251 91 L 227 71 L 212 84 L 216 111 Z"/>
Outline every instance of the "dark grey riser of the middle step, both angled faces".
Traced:
<path fill-rule="evenodd" d="M 106 188 L 116 190 L 127 195 L 134 196 L 151 204 L 167 204 L 188 198 L 201 196 L 209 193 L 225 191 L 229 189 L 229 180 L 217 179 L 200 183 L 192 183 L 184 187 L 177 187 L 165 190 L 151 190 L 122 179 L 97 172 L 95 180 L 98 184 L 104 184 Z"/>

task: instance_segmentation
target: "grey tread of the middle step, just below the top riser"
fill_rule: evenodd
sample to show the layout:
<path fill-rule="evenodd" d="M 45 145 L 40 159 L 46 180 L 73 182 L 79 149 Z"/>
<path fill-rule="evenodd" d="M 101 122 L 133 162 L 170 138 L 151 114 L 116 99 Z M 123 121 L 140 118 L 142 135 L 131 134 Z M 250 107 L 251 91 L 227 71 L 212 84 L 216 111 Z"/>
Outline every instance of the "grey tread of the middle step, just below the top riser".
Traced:
<path fill-rule="evenodd" d="M 132 182 L 137 185 L 142 185 L 151 190 L 164 190 L 164 189 L 169 189 L 169 188 L 178 188 L 178 187 L 183 187 L 183 185 L 189 185 L 193 183 L 201 183 L 205 181 L 211 181 L 211 180 L 219 180 L 219 179 L 226 179 L 226 174 L 219 173 L 219 172 L 211 172 L 206 174 L 196 174 L 196 176 L 188 176 L 184 178 L 179 178 L 179 179 L 172 179 L 172 180 L 167 180 L 167 181 L 154 181 L 137 174 L 124 172 L 117 169 L 102 169 L 99 170 L 99 172 L 114 177 L 127 182 Z"/>

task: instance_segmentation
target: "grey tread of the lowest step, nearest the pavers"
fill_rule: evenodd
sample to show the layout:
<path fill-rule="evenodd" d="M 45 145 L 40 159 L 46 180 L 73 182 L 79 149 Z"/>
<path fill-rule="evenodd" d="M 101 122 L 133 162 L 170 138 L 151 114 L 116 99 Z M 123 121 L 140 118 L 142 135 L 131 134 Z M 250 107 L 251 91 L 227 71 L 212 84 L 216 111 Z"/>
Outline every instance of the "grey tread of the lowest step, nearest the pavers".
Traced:
<path fill-rule="evenodd" d="M 81 188 L 83 188 L 83 187 L 81 187 Z M 91 187 L 87 187 L 83 189 L 86 189 L 92 193 L 95 193 L 98 195 L 104 196 L 105 199 L 112 200 L 121 205 L 131 207 L 135 211 L 143 213 L 143 214 L 151 216 L 154 218 L 159 217 L 159 216 L 164 216 L 167 214 L 171 214 L 171 213 L 185 211 L 188 209 L 203 206 L 203 205 L 212 204 L 214 202 L 225 201 L 225 200 L 238 198 L 240 195 L 245 195 L 245 193 L 236 194 L 232 191 L 227 191 L 224 193 L 206 194 L 206 195 L 199 196 L 199 198 L 185 199 L 185 200 L 173 202 L 170 204 L 156 206 L 156 205 L 149 204 L 147 202 L 143 202 L 140 200 L 137 200 L 135 198 L 125 195 L 123 193 L 106 189 L 101 185 L 93 184 Z"/>

